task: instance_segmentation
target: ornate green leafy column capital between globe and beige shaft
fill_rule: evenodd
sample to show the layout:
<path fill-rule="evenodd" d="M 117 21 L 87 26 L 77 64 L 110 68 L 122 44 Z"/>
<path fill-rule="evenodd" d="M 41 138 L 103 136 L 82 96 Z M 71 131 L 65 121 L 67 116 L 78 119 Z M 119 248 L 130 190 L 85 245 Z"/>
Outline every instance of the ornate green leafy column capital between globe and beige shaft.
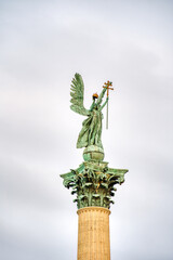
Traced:
<path fill-rule="evenodd" d="M 124 182 L 127 169 L 108 168 L 108 162 L 89 160 L 83 161 L 78 169 L 71 170 L 61 177 L 64 179 L 64 186 L 71 187 L 71 194 L 77 194 L 74 200 L 78 209 L 84 207 L 110 208 L 114 204 L 115 184 Z"/>

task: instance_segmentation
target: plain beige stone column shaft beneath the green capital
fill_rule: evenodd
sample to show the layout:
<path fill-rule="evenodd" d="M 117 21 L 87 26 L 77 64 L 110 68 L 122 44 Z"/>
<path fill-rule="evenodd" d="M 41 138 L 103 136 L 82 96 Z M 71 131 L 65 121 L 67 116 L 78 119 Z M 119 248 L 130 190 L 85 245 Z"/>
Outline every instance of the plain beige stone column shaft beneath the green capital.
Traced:
<path fill-rule="evenodd" d="M 110 210 L 104 207 L 85 207 L 77 213 L 78 260 L 110 260 Z"/>

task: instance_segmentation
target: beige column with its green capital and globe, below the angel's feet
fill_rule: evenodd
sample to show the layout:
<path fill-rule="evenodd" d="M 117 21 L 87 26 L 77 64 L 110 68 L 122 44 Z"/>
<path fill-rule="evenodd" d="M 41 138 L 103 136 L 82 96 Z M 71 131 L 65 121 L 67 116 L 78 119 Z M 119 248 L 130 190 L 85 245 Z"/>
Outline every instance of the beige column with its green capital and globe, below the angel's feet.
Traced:
<path fill-rule="evenodd" d="M 116 184 L 124 182 L 125 169 L 108 168 L 98 159 L 101 151 L 86 147 L 85 161 L 61 177 L 64 185 L 77 194 L 78 260 L 110 260 L 109 214 Z M 86 160 L 88 159 L 88 160 Z"/>

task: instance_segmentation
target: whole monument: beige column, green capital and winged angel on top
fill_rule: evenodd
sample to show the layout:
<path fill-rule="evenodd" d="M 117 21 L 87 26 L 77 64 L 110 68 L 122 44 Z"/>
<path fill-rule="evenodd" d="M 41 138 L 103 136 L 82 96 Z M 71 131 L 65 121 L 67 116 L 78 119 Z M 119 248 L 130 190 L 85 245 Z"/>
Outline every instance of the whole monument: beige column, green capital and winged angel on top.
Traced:
<path fill-rule="evenodd" d="M 109 214 L 116 184 L 124 182 L 127 169 L 114 169 L 104 161 L 102 144 L 102 110 L 107 105 L 111 82 L 103 86 L 101 94 L 93 94 L 90 109 L 83 106 L 84 84 L 79 74 L 71 82 L 71 106 L 76 113 L 86 116 L 77 141 L 77 148 L 84 148 L 83 162 L 70 172 L 61 174 L 64 186 L 71 187 L 78 207 L 78 260 L 110 260 Z M 103 103 L 105 93 L 106 101 Z"/>

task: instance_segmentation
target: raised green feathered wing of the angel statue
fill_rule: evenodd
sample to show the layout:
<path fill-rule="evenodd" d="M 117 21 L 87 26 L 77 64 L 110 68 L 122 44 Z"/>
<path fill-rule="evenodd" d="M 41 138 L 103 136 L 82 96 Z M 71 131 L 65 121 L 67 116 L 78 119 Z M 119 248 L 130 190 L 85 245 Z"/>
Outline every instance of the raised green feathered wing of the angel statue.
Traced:
<path fill-rule="evenodd" d="M 84 84 L 82 77 L 79 74 L 75 75 L 75 78 L 71 81 L 71 105 L 70 108 L 83 116 L 89 116 L 90 110 L 85 109 L 83 106 L 83 93 L 84 93 Z"/>

